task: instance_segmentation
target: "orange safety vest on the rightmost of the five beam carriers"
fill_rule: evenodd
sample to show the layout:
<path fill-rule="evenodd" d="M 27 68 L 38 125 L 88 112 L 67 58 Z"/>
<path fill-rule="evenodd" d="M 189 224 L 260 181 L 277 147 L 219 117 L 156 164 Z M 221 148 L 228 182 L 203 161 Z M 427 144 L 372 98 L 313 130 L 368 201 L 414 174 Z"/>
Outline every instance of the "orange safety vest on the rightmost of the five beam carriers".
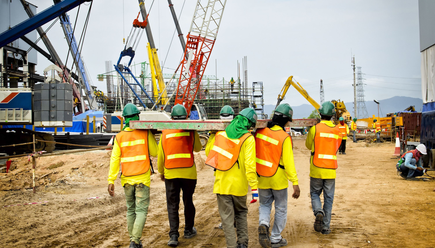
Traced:
<path fill-rule="evenodd" d="M 328 126 L 325 123 L 316 125 L 314 136 L 313 164 L 319 168 L 337 169 L 337 151 L 343 139 L 343 134 L 337 126 Z"/>

